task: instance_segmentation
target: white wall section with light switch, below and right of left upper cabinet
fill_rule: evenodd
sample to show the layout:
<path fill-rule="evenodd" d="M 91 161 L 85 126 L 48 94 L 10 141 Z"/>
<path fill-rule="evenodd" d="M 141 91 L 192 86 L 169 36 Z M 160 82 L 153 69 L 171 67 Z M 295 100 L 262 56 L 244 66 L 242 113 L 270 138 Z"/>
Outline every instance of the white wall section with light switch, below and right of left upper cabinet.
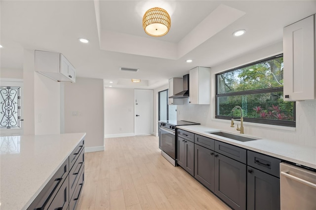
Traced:
<path fill-rule="evenodd" d="M 104 150 L 103 79 L 64 83 L 65 133 L 85 132 L 85 151 Z"/>

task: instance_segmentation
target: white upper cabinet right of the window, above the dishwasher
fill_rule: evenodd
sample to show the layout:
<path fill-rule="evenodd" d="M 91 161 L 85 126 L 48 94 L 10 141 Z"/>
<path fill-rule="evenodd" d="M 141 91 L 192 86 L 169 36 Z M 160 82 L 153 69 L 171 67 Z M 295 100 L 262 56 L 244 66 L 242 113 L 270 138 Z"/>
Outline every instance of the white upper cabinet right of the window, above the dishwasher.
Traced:
<path fill-rule="evenodd" d="M 316 99 L 315 15 L 283 29 L 284 101 Z"/>

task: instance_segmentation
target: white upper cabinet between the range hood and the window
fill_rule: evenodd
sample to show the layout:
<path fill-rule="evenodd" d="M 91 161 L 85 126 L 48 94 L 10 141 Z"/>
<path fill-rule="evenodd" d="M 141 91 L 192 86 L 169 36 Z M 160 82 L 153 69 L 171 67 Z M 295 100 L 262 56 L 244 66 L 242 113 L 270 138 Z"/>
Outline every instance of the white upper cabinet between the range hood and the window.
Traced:
<path fill-rule="evenodd" d="M 211 95 L 210 68 L 196 67 L 190 70 L 190 104 L 209 105 Z"/>

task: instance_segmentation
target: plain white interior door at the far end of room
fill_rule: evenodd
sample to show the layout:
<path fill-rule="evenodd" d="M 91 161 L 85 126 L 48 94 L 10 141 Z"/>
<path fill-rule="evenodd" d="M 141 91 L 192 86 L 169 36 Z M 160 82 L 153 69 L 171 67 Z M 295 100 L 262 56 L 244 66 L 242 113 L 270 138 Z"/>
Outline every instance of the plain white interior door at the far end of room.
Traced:
<path fill-rule="evenodd" d="M 153 111 L 154 111 L 153 90 L 134 91 L 134 133 L 139 135 L 151 135 L 153 131 Z"/>

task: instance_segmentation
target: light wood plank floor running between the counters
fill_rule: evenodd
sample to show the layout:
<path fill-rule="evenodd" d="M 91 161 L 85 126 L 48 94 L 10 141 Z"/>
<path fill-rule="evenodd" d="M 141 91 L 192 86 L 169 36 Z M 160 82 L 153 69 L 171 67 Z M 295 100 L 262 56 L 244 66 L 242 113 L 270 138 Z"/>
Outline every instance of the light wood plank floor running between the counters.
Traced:
<path fill-rule="evenodd" d="M 158 137 L 105 139 L 105 151 L 85 153 L 78 210 L 227 210 L 220 199 L 158 148 Z"/>

